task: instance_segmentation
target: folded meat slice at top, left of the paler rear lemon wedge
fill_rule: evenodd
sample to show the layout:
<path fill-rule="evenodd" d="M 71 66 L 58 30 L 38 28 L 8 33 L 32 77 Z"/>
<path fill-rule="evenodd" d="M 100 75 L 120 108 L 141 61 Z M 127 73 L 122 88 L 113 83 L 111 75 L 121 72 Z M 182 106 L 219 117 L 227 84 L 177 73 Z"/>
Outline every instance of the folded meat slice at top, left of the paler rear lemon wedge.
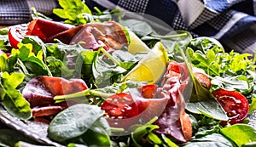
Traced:
<path fill-rule="evenodd" d="M 55 42 L 55 39 L 67 44 L 82 42 L 82 47 L 93 50 L 121 49 L 128 45 L 125 31 L 114 21 L 79 25 L 49 37 L 47 42 Z"/>

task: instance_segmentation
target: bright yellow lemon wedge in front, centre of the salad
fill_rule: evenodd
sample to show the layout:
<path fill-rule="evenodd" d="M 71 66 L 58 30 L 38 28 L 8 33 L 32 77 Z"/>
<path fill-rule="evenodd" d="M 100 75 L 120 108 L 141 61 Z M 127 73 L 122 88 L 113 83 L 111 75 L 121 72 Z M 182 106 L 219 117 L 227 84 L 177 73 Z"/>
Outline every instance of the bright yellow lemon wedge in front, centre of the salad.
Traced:
<path fill-rule="evenodd" d="M 157 42 L 154 48 L 128 72 L 123 81 L 131 80 L 154 84 L 160 80 L 166 71 L 167 60 L 168 57 L 163 44 Z"/>

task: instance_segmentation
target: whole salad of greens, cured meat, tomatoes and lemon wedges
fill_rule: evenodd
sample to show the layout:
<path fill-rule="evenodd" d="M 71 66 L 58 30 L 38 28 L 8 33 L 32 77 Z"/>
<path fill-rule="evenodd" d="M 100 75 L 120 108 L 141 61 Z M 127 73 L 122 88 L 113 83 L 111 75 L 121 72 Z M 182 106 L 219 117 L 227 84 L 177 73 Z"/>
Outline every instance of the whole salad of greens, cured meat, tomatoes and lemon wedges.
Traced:
<path fill-rule="evenodd" d="M 252 54 L 226 53 L 189 31 L 163 33 L 117 9 L 59 2 L 64 22 L 33 9 L 28 24 L 0 30 L 9 114 L 48 124 L 49 139 L 65 146 L 256 145 Z"/>

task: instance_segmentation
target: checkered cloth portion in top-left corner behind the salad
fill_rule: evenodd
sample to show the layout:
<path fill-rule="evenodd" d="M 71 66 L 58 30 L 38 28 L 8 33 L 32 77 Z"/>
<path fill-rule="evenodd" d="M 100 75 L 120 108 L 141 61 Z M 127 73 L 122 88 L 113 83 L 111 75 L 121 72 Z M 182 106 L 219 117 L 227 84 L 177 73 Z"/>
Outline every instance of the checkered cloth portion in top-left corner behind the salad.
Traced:
<path fill-rule="evenodd" d="M 31 19 L 31 7 L 49 15 L 57 7 L 57 0 L 0 0 L 0 25 L 28 22 Z"/>

